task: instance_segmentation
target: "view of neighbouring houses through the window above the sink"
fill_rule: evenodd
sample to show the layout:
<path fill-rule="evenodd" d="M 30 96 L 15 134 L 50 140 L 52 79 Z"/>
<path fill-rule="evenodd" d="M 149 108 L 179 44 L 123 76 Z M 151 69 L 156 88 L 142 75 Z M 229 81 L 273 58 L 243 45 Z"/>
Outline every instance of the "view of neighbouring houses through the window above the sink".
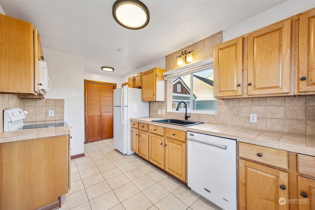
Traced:
<path fill-rule="evenodd" d="M 183 75 L 172 79 L 172 110 L 176 111 L 179 102 L 187 104 L 188 112 L 206 113 L 217 111 L 214 98 L 213 68 Z M 179 111 L 185 112 L 185 104 L 179 105 Z"/>

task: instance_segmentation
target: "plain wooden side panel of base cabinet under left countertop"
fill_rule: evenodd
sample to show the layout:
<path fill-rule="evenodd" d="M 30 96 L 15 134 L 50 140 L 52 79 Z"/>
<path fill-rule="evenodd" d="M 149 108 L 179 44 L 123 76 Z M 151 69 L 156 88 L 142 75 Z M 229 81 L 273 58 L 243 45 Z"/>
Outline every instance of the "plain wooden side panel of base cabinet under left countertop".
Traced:
<path fill-rule="evenodd" d="M 0 209 L 33 210 L 70 186 L 69 135 L 0 144 Z"/>

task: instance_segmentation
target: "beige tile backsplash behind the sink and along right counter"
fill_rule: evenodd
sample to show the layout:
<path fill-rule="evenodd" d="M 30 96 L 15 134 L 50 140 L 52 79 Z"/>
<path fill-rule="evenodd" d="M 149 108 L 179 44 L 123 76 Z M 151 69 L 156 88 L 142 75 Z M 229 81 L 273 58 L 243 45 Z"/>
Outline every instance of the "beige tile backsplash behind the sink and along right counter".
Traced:
<path fill-rule="evenodd" d="M 184 120 L 185 113 L 166 111 L 166 101 L 150 102 L 150 117 Z M 158 115 L 163 109 L 165 115 Z M 257 114 L 257 122 L 250 122 L 250 114 Z M 191 114 L 189 120 L 315 135 L 315 96 L 218 99 L 216 115 Z"/>

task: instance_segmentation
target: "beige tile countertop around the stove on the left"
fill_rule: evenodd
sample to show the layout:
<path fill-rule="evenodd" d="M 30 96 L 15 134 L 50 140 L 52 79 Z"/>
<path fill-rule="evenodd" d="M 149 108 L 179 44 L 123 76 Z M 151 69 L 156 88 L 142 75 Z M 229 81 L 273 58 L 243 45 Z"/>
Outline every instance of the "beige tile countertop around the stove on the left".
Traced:
<path fill-rule="evenodd" d="M 59 122 L 55 120 L 50 121 L 36 121 L 32 123 L 52 123 Z M 38 139 L 51 136 L 62 136 L 70 134 L 70 127 L 60 126 L 60 127 L 45 127 L 45 128 L 33 128 L 26 130 L 15 130 L 6 131 L 0 133 L 0 143 L 15 142 L 29 139 Z"/>

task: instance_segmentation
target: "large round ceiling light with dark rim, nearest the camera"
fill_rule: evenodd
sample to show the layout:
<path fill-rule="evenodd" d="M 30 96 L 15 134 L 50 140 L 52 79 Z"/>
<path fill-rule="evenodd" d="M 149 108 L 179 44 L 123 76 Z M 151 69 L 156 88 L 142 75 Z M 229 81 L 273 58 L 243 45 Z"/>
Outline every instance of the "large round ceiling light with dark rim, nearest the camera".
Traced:
<path fill-rule="evenodd" d="M 127 29 L 142 29 L 150 20 L 149 10 L 139 0 L 117 0 L 113 5 L 116 22 Z"/>

